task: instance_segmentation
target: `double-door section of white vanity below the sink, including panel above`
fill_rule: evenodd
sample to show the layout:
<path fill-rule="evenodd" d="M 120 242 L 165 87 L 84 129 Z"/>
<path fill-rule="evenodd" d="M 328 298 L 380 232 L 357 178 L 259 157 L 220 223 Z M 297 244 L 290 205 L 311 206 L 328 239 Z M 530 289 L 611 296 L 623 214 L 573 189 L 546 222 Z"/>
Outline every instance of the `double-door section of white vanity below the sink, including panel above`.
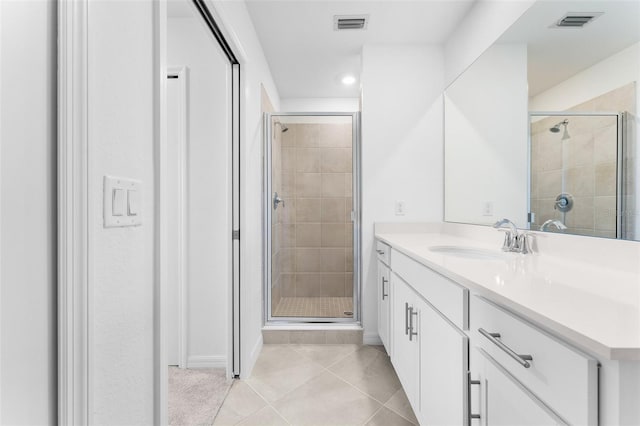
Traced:
<path fill-rule="evenodd" d="M 431 290 L 443 284 L 445 289 L 453 286 L 451 293 L 445 290 L 453 300 L 434 299 L 443 303 L 445 311 L 459 303 L 460 309 L 452 310 L 459 313 L 466 300 L 459 290 L 464 289 L 453 282 L 443 283 L 442 276 L 412 263 L 404 254 L 392 252 L 391 361 L 421 424 L 466 424 L 468 338 L 438 305 L 416 291 L 423 286 Z M 454 316 L 456 320 L 466 317 Z"/>

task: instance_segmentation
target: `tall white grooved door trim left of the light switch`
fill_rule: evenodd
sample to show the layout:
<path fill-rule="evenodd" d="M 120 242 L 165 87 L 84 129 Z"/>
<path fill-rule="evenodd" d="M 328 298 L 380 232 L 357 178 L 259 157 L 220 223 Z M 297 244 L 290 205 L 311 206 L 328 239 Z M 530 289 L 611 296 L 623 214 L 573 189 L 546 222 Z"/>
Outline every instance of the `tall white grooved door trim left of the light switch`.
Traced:
<path fill-rule="evenodd" d="M 58 3 L 58 423 L 90 424 L 88 0 Z"/>

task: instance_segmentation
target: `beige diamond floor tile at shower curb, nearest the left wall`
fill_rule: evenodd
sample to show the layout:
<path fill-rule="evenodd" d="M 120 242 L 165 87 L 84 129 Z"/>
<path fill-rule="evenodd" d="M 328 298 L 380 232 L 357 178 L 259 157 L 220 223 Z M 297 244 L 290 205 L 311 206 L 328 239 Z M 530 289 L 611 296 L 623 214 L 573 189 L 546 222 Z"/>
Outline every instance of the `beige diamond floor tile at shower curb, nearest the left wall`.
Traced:
<path fill-rule="evenodd" d="M 267 401 L 275 401 L 322 371 L 290 346 L 265 345 L 247 383 Z"/>

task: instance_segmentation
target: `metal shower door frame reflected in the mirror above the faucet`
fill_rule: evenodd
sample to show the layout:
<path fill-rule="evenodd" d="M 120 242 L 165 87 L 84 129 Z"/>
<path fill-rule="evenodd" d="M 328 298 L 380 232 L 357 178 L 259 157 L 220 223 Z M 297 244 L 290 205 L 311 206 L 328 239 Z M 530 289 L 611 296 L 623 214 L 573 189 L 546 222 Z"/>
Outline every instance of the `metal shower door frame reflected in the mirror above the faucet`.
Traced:
<path fill-rule="evenodd" d="M 616 117 L 617 130 L 617 153 L 616 153 L 616 239 L 622 239 L 622 213 L 624 212 L 624 156 L 626 150 L 626 115 L 622 112 L 580 112 L 580 111 L 529 111 L 529 124 L 527 128 L 527 144 L 529 161 L 527 162 L 527 210 L 531 213 L 531 117 Z M 531 219 L 529 216 L 529 229 L 531 229 Z"/>

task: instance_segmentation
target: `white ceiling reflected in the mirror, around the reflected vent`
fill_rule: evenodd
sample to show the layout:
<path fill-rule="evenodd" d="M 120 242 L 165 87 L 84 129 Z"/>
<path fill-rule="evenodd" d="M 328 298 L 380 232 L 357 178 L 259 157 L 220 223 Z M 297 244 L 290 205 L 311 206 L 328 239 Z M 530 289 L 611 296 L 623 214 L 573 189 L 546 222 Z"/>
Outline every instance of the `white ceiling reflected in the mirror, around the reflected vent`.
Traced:
<path fill-rule="evenodd" d="M 567 12 L 604 12 L 583 28 L 549 28 Z M 638 1 L 543 1 L 499 43 L 526 43 L 529 96 L 563 82 L 640 40 Z"/>

